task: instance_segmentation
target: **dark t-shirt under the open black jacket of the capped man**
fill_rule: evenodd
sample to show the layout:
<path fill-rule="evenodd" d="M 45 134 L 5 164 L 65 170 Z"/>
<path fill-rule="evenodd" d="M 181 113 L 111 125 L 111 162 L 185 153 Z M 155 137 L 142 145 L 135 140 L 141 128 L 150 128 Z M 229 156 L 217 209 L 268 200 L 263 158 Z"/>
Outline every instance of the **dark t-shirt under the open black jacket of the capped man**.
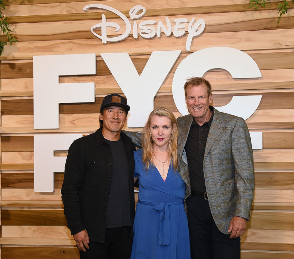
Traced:
<path fill-rule="evenodd" d="M 105 140 L 111 147 L 112 176 L 106 215 L 106 227 L 131 226 L 128 160 L 120 138 Z"/>

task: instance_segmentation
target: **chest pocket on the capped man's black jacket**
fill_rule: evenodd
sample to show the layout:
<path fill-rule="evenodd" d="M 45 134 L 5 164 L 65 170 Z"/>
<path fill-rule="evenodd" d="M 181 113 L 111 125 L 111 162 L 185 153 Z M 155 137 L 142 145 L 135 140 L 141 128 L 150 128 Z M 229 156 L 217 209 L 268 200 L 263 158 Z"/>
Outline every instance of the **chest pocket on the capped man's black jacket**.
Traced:
<path fill-rule="evenodd" d="M 85 184 L 99 185 L 103 177 L 103 161 L 89 161 L 86 166 Z"/>

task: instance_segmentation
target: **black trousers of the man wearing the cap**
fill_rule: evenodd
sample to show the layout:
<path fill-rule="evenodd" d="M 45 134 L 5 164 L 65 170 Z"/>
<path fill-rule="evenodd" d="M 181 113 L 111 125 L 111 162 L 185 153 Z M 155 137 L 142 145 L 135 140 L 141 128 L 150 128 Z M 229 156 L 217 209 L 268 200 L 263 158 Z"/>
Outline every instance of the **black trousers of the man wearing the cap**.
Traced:
<path fill-rule="evenodd" d="M 130 238 L 131 226 L 106 228 L 105 242 L 89 243 L 86 252 L 80 250 L 81 259 L 130 259 L 133 237 Z"/>

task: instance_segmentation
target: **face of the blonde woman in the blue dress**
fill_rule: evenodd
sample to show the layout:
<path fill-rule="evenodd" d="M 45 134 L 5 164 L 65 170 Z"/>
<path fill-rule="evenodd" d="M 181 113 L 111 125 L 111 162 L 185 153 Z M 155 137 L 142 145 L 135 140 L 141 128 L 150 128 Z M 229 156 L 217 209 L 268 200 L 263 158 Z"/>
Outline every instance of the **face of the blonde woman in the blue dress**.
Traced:
<path fill-rule="evenodd" d="M 150 119 L 149 130 L 153 140 L 153 145 L 167 147 L 174 126 L 175 125 L 171 125 L 171 120 L 166 116 L 152 116 Z"/>

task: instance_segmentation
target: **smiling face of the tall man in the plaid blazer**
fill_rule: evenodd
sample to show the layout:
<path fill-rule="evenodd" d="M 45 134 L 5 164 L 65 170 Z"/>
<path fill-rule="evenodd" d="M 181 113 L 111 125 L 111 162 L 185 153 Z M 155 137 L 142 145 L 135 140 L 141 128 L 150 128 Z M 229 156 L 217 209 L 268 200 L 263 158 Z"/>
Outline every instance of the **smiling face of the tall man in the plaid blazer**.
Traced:
<path fill-rule="evenodd" d="M 200 126 L 204 122 L 209 121 L 211 116 L 209 104 L 211 102 L 212 95 L 208 95 L 205 85 L 189 85 L 187 87 L 186 104 L 188 106 L 188 111 Z"/>

